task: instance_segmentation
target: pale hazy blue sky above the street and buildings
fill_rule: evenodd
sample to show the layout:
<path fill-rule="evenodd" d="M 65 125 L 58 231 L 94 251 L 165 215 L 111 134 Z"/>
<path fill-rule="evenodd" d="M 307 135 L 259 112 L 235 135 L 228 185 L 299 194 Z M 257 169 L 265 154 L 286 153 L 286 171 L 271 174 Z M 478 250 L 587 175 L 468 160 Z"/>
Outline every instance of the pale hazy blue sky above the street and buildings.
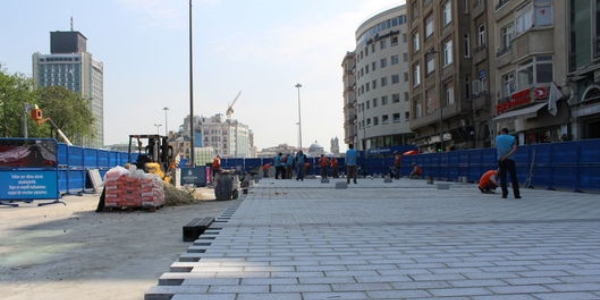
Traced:
<path fill-rule="evenodd" d="M 232 118 L 259 150 L 297 146 L 300 94 L 302 146 L 329 151 L 337 137 L 346 149 L 342 60 L 364 21 L 402 4 L 193 0 L 194 115 L 225 115 L 241 92 Z M 106 145 L 177 130 L 189 115 L 189 0 L 14 0 L 1 11 L 1 68 L 25 76 L 32 54 L 49 54 L 50 32 L 69 31 L 72 18 L 104 66 Z"/>

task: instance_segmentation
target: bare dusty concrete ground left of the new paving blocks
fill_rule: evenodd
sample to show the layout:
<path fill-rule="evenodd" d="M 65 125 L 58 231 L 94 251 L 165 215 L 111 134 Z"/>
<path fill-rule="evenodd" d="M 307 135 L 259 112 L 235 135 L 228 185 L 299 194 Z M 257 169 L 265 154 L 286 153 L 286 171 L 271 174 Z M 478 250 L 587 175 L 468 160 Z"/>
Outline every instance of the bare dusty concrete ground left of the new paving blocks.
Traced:
<path fill-rule="evenodd" d="M 0 206 L 1 299 L 143 299 L 191 245 L 183 242 L 182 227 L 220 215 L 231 202 L 96 213 L 98 198 Z"/>

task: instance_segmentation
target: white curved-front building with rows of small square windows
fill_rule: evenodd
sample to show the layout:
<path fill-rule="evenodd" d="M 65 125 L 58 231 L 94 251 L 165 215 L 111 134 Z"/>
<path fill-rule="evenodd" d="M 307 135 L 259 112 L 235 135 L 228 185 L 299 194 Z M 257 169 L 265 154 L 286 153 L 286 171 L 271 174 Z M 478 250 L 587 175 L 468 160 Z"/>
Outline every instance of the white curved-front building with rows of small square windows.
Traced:
<path fill-rule="evenodd" d="M 356 49 L 344 58 L 344 139 L 358 150 L 412 142 L 405 11 L 404 5 L 398 6 L 363 22 L 356 30 Z M 355 65 L 349 61 L 353 57 Z M 355 83 L 348 78 L 350 70 Z"/>

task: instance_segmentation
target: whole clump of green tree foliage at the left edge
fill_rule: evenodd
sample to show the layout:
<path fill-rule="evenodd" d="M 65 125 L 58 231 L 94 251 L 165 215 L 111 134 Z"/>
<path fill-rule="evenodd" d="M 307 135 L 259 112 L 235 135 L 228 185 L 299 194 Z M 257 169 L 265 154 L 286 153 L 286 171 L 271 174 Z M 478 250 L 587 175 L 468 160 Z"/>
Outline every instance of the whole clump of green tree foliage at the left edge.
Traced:
<path fill-rule="evenodd" d="M 94 117 L 82 96 L 60 86 L 35 88 L 31 78 L 0 69 L 0 136 L 23 137 L 25 120 L 28 137 L 56 137 L 49 121 L 38 125 L 31 119 L 27 105 L 42 109 L 43 118 L 52 119 L 74 144 L 95 135 Z"/>

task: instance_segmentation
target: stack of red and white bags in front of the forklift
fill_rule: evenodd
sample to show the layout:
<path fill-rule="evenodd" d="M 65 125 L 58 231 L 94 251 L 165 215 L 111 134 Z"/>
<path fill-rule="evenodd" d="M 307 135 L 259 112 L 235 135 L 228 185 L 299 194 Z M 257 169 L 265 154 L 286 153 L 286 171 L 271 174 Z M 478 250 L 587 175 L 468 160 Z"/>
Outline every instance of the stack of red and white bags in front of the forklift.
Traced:
<path fill-rule="evenodd" d="M 165 203 L 163 182 L 155 174 L 117 166 L 104 175 L 106 207 L 160 207 Z"/>

